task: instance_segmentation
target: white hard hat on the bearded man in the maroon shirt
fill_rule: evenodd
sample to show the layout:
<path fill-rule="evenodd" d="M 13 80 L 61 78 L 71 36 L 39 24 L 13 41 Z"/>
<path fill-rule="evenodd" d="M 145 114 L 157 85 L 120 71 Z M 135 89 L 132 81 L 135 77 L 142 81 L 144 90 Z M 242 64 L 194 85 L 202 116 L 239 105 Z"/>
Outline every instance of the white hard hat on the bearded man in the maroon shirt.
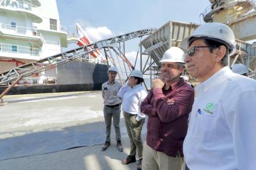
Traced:
<path fill-rule="evenodd" d="M 163 54 L 162 60 L 159 61 L 160 63 L 163 62 L 170 62 L 170 63 L 184 63 L 184 52 L 182 49 L 176 46 L 172 46 Z"/>

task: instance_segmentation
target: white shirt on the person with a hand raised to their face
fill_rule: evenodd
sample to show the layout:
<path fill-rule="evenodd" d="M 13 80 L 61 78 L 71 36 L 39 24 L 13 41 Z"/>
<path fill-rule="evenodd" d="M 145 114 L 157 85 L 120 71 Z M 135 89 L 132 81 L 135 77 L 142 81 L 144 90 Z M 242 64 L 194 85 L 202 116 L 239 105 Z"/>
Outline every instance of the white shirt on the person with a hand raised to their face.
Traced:
<path fill-rule="evenodd" d="M 147 95 L 147 91 L 140 84 L 133 88 L 123 85 L 118 92 L 118 96 L 122 98 L 122 110 L 129 114 L 137 114 L 137 121 L 145 118 L 145 114 L 140 112 L 140 103 Z"/>

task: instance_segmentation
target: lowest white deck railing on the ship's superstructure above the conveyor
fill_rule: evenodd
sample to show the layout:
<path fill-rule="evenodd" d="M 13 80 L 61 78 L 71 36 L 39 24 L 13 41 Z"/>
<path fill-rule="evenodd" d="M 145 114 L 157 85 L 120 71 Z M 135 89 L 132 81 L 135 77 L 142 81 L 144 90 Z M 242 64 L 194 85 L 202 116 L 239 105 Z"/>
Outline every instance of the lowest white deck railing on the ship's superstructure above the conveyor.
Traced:
<path fill-rule="evenodd" d="M 21 54 L 28 54 L 31 56 L 40 56 L 40 49 L 32 48 L 28 46 L 13 45 L 13 44 L 0 43 L 0 52 L 21 53 Z"/>

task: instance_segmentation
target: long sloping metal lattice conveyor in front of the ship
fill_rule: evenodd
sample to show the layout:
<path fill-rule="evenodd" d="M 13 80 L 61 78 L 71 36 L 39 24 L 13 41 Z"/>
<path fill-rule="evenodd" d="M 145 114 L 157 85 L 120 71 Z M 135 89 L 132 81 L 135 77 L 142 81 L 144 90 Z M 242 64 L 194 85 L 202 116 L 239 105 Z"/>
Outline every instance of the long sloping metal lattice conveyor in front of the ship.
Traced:
<path fill-rule="evenodd" d="M 13 83 L 4 92 L 2 92 L 2 94 L 0 95 L 0 100 L 6 93 L 9 92 L 9 90 L 15 84 L 17 84 L 17 82 L 21 78 L 29 77 L 36 73 L 41 73 L 42 71 L 49 70 L 51 68 L 61 66 L 62 64 L 72 62 L 76 59 L 79 59 L 80 57 L 89 55 L 91 52 L 94 52 L 95 50 L 99 50 L 103 48 L 111 48 L 111 45 L 118 44 L 120 42 L 124 42 L 129 39 L 143 37 L 144 35 L 150 35 L 155 30 L 156 30 L 155 28 L 146 28 L 143 30 L 138 30 L 138 31 L 127 33 L 127 34 L 119 35 L 117 37 L 104 39 L 89 45 L 85 45 L 73 50 L 69 50 L 67 52 L 59 53 L 58 55 L 46 57 L 44 59 L 37 60 L 35 62 L 31 62 L 19 67 L 12 68 L 9 71 L 5 71 L 0 74 L 0 85 L 7 84 L 9 82 L 13 82 Z"/>

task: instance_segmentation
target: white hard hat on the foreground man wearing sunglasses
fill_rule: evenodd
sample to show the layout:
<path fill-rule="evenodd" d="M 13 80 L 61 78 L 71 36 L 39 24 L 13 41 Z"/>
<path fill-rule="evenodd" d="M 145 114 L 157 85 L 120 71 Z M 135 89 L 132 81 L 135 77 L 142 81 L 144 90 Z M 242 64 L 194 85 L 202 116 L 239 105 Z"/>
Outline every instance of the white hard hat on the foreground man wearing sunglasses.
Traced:
<path fill-rule="evenodd" d="M 181 47 L 187 49 L 193 39 L 212 39 L 221 42 L 229 49 L 229 56 L 236 52 L 236 39 L 230 27 L 222 23 L 205 23 L 196 28 L 187 38 L 183 39 Z"/>

